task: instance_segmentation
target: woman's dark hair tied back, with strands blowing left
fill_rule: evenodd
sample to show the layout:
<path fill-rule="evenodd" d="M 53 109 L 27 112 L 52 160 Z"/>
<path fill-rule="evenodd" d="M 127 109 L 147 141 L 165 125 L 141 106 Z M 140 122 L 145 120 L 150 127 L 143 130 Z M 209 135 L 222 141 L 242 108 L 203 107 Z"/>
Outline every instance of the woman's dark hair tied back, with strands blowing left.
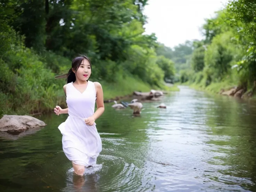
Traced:
<path fill-rule="evenodd" d="M 91 67 L 90 59 L 85 55 L 81 55 L 81 56 L 75 57 L 73 59 L 72 66 L 71 66 L 68 73 L 63 74 L 63 75 L 57 75 L 55 78 L 56 79 L 67 78 L 67 83 L 75 82 L 75 73 L 72 71 L 72 69 L 74 69 L 75 72 L 77 72 L 78 68 L 80 67 L 80 65 L 83 62 L 83 59 L 86 59 L 90 63 L 90 67 Z"/>

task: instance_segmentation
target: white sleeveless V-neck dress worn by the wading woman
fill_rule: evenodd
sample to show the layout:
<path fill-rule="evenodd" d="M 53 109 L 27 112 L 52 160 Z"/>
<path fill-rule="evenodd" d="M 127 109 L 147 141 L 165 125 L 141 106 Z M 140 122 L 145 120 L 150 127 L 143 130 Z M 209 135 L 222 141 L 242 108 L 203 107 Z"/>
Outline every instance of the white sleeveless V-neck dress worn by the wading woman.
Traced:
<path fill-rule="evenodd" d="M 88 81 L 86 90 L 81 93 L 73 86 L 66 86 L 66 102 L 69 117 L 59 125 L 62 134 L 62 147 L 66 157 L 75 164 L 85 167 L 96 164 L 102 151 L 101 137 L 93 126 L 86 125 L 85 119 L 94 114 L 96 90 L 94 83 Z"/>

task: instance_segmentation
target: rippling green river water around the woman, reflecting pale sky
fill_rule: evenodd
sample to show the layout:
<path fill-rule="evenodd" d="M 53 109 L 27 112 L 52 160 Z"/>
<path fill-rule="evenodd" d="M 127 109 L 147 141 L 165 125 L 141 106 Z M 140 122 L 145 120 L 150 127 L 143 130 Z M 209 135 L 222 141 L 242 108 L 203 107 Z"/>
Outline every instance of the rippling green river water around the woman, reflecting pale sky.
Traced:
<path fill-rule="evenodd" d="M 103 151 L 85 176 L 73 174 L 58 125 L 0 140 L 1 191 L 256 191 L 256 103 L 181 87 L 132 110 L 106 104 L 97 120 Z"/>

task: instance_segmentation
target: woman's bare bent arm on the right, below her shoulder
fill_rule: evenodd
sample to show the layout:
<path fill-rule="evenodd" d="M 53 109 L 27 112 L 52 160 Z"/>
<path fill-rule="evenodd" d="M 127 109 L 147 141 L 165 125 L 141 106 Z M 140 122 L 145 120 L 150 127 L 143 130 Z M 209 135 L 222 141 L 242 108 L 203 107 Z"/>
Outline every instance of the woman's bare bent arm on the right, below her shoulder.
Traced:
<path fill-rule="evenodd" d="M 102 86 L 99 82 L 94 82 L 94 86 L 95 86 L 96 95 L 97 95 L 97 99 L 96 99 L 97 110 L 95 111 L 92 117 L 96 120 L 102 115 L 105 108 L 104 108 L 104 102 L 103 102 Z"/>

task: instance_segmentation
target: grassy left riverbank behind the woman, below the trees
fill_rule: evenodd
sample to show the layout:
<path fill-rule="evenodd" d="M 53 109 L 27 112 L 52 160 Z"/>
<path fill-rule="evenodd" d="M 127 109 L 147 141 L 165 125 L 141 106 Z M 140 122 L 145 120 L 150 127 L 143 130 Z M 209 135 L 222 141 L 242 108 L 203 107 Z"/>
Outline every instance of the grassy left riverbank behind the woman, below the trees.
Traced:
<path fill-rule="evenodd" d="M 104 100 L 131 95 L 133 91 L 150 91 L 150 89 L 162 89 L 167 91 L 178 91 L 176 86 L 151 87 L 133 75 L 119 75 L 116 82 L 109 83 L 105 80 L 94 80 L 101 83 L 104 91 Z M 15 93 L 15 95 L 1 93 L 0 98 L 0 118 L 3 114 L 33 115 L 38 113 L 49 113 L 53 111 L 55 105 L 66 106 L 63 85 L 64 79 L 54 80 L 55 83 L 49 87 L 38 86 L 37 89 L 26 90 Z"/>

